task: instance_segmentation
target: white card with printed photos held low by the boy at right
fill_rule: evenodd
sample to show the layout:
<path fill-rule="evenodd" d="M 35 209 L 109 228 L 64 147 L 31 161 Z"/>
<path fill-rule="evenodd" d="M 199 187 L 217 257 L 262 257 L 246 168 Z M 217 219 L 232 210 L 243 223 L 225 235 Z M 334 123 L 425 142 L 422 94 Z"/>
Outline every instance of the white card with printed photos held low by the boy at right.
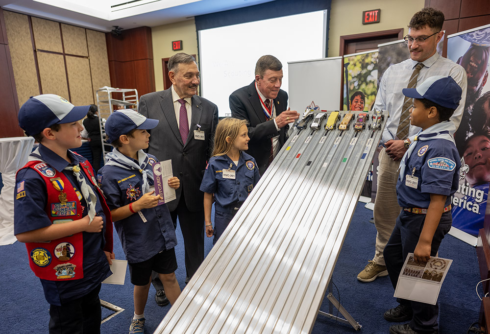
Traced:
<path fill-rule="evenodd" d="M 427 263 L 418 263 L 414 262 L 414 253 L 408 253 L 393 297 L 436 305 L 442 282 L 452 262 L 431 257 Z"/>

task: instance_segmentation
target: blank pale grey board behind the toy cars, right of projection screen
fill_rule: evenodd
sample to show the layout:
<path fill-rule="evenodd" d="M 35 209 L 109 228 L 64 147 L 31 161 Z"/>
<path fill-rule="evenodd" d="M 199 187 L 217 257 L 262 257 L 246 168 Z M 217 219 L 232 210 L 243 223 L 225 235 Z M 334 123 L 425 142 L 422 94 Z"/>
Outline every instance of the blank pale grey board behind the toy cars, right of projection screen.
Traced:
<path fill-rule="evenodd" d="M 305 111 L 313 100 L 321 110 L 339 110 L 342 57 L 289 62 L 289 107 Z"/>

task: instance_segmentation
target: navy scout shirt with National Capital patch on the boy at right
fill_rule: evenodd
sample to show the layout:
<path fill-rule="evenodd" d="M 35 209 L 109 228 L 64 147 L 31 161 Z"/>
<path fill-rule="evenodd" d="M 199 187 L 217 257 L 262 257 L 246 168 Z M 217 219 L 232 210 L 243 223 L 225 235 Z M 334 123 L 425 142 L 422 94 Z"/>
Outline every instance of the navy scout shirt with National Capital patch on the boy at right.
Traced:
<path fill-rule="evenodd" d="M 398 176 L 398 204 L 404 208 L 429 207 L 430 194 L 446 195 L 445 206 L 458 190 L 460 156 L 456 145 L 444 139 L 419 140 L 407 159 L 405 175 Z M 415 168 L 415 171 L 414 171 Z M 417 189 L 406 185 L 406 175 L 418 178 Z"/>

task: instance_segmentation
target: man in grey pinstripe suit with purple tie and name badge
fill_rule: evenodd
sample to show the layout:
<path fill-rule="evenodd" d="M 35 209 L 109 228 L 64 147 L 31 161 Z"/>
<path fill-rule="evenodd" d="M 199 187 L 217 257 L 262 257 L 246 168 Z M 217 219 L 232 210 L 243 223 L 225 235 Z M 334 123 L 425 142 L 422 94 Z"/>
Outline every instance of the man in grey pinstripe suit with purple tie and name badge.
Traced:
<path fill-rule="evenodd" d="M 174 54 L 169 59 L 169 77 L 171 88 L 141 96 L 139 112 L 160 120 L 156 128 L 148 131 L 148 153 L 160 161 L 172 159 L 173 175 L 180 179 L 180 188 L 175 191 L 177 199 L 167 206 L 174 227 L 178 218 L 184 237 L 188 282 L 204 260 L 203 192 L 199 186 L 213 147 L 218 107 L 196 95 L 199 70 L 193 56 Z M 157 303 L 168 303 L 159 298 L 163 293 L 159 291 L 163 289 L 161 283 L 155 288 Z"/>

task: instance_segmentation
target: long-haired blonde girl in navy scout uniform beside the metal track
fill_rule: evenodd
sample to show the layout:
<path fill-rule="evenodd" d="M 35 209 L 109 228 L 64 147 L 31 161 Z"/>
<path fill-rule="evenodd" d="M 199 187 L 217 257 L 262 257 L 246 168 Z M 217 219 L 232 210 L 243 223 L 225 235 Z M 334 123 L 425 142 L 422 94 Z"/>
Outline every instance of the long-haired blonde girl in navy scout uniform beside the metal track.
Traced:
<path fill-rule="evenodd" d="M 200 191 L 204 191 L 204 221 L 206 236 L 213 244 L 235 216 L 248 194 L 260 179 L 255 159 L 248 149 L 248 129 L 245 119 L 222 119 L 216 127 L 214 149 L 204 172 Z M 215 228 L 211 223 L 211 206 L 215 203 Z"/>

